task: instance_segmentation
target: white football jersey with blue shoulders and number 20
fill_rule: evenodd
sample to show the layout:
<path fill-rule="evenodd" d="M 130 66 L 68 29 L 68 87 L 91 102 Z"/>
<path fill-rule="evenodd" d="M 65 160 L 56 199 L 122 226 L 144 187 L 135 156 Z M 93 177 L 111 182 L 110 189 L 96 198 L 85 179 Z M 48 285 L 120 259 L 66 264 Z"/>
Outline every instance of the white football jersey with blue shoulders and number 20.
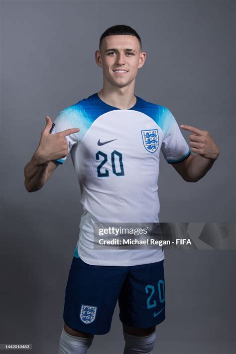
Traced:
<path fill-rule="evenodd" d="M 66 137 L 81 188 L 84 213 L 76 254 L 92 265 L 131 266 L 164 259 L 159 249 L 94 249 L 94 223 L 159 221 L 159 154 L 174 164 L 190 149 L 172 113 L 136 96 L 130 109 L 118 109 L 98 93 L 59 112 L 52 134 Z M 68 153 L 69 153 L 68 152 Z M 63 164 L 66 158 L 57 160 Z"/>

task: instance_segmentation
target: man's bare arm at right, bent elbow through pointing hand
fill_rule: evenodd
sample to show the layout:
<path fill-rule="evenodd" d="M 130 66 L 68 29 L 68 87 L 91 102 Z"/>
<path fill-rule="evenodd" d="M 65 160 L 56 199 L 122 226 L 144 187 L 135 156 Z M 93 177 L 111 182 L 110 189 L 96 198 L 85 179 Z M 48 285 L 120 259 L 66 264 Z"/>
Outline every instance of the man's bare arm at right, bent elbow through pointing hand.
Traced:
<path fill-rule="evenodd" d="M 197 182 L 212 168 L 220 154 L 220 149 L 206 130 L 188 125 L 181 125 L 180 128 L 193 133 L 189 136 L 189 145 L 191 151 L 197 155 L 190 155 L 188 159 L 172 166 L 187 182 Z"/>

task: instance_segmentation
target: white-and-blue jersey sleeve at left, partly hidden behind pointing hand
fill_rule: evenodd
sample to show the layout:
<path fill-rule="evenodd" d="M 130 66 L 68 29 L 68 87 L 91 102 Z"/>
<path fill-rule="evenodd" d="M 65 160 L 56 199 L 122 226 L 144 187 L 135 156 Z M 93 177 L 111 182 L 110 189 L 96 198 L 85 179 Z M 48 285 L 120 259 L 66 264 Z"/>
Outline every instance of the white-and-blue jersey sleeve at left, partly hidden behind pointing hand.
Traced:
<path fill-rule="evenodd" d="M 59 132 L 62 132 L 64 130 L 70 129 L 70 128 L 77 128 L 77 127 L 75 126 L 73 121 L 70 119 L 70 111 L 64 110 L 64 111 L 61 111 L 58 113 L 56 119 L 53 122 L 52 128 L 50 130 L 50 134 L 59 133 Z M 72 147 L 78 144 L 78 141 L 76 139 L 76 133 L 67 135 L 65 138 L 68 143 L 68 154 L 69 154 Z M 65 158 L 62 158 L 59 160 L 54 160 L 54 162 L 62 165 L 66 161 L 67 156 Z"/>

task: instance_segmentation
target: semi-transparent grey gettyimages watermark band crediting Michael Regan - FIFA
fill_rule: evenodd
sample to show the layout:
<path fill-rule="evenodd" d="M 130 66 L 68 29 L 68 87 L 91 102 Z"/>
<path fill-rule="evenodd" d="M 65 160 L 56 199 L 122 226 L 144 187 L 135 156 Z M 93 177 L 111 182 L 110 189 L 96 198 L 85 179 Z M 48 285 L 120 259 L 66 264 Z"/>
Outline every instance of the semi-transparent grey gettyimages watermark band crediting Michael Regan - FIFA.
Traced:
<path fill-rule="evenodd" d="M 235 250 L 235 223 L 94 223 L 94 249 Z"/>

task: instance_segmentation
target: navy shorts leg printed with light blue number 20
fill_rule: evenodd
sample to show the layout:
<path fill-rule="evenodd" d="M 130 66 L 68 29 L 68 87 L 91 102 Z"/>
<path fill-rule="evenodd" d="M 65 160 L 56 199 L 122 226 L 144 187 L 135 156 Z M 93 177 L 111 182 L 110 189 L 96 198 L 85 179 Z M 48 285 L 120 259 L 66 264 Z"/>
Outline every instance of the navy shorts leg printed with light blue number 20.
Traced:
<path fill-rule="evenodd" d="M 165 319 L 164 260 L 129 267 L 119 295 L 120 321 L 132 328 L 153 328 Z"/>

